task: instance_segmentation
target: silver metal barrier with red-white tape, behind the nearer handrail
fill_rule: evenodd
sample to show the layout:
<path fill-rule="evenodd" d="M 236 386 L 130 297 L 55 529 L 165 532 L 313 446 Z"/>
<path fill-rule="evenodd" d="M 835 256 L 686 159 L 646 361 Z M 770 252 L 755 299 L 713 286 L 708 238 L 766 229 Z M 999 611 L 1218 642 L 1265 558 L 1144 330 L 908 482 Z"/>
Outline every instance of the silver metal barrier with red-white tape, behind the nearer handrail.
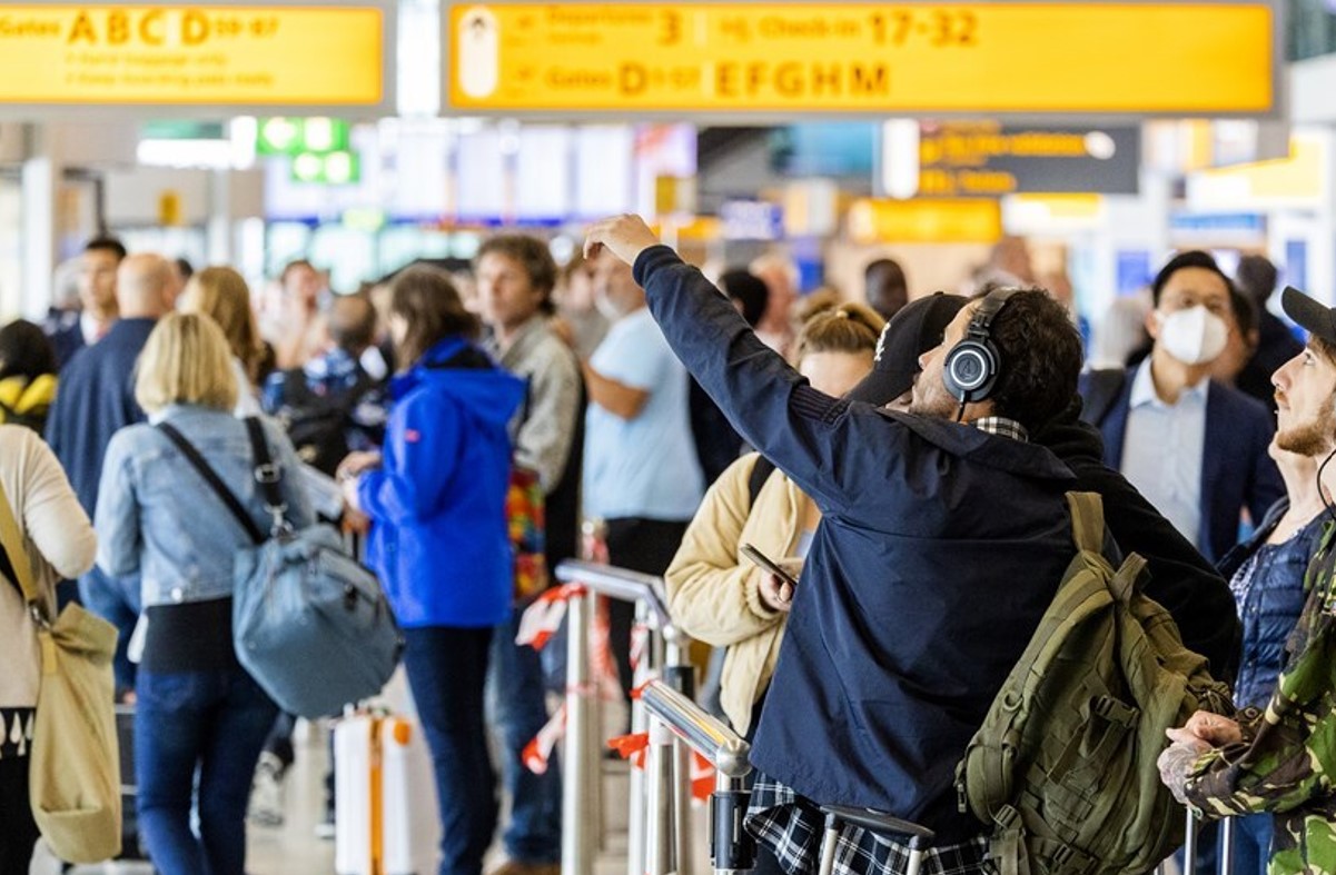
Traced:
<path fill-rule="evenodd" d="M 595 597 L 636 605 L 636 625 L 644 631 L 639 659 L 633 660 L 636 689 L 652 683 L 669 684 L 689 703 L 695 695 L 695 675 L 687 659 L 689 640 L 672 625 L 661 578 L 582 561 L 561 562 L 556 578 L 577 588 L 566 602 L 561 871 L 564 875 L 592 875 L 603 824 L 600 763 L 604 748 L 599 737 L 599 700 L 589 695 Z M 655 681 L 655 677 L 661 680 Z M 656 736 L 651 723 L 644 696 L 635 697 L 631 703 L 632 733 L 648 732 L 651 741 L 645 769 L 631 769 L 627 872 L 692 875 L 691 752 L 672 735 L 660 731 Z"/>

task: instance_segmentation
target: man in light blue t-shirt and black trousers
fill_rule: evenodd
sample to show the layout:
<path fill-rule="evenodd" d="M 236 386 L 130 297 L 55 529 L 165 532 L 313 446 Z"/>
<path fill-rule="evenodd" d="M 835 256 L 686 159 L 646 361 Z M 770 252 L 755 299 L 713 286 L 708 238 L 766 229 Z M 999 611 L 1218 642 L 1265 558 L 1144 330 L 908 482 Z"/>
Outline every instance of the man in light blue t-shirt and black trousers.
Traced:
<path fill-rule="evenodd" d="M 612 323 L 584 363 L 584 514 L 608 524 L 612 565 L 663 574 L 705 492 L 691 440 L 687 369 L 645 307 L 631 266 L 593 262 L 595 303 Z M 631 692 L 635 606 L 609 604 L 612 653 Z"/>

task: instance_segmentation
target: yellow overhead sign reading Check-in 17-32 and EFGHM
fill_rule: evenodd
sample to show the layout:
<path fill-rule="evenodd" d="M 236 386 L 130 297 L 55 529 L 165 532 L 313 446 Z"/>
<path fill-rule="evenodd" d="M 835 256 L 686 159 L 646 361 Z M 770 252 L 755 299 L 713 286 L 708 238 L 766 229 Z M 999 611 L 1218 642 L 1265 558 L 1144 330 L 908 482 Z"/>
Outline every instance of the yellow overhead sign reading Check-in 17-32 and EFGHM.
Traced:
<path fill-rule="evenodd" d="M 452 4 L 465 111 L 1275 112 L 1264 1 Z"/>

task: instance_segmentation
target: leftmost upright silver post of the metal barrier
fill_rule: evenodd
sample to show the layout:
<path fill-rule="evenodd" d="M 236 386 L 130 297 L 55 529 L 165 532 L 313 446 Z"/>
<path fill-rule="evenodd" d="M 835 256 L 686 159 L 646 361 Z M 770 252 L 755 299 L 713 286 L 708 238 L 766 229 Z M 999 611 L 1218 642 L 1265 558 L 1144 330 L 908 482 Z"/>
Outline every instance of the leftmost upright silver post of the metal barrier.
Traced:
<path fill-rule="evenodd" d="M 566 740 L 561 796 L 561 871 L 564 875 L 592 875 L 599 844 L 597 747 L 589 744 L 596 732 L 595 701 L 589 689 L 589 623 L 595 598 L 573 596 L 566 605 Z"/>

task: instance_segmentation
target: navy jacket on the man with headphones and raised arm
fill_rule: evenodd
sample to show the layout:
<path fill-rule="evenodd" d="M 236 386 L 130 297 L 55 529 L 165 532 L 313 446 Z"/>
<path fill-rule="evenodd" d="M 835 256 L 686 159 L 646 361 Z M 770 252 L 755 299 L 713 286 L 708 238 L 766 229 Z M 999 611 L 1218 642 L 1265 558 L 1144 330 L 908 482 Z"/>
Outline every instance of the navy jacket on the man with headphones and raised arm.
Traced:
<path fill-rule="evenodd" d="M 985 831 L 954 769 L 1074 554 L 1053 453 L 824 395 L 667 247 L 636 279 L 669 345 L 823 513 L 752 761 L 818 803 Z"/>

